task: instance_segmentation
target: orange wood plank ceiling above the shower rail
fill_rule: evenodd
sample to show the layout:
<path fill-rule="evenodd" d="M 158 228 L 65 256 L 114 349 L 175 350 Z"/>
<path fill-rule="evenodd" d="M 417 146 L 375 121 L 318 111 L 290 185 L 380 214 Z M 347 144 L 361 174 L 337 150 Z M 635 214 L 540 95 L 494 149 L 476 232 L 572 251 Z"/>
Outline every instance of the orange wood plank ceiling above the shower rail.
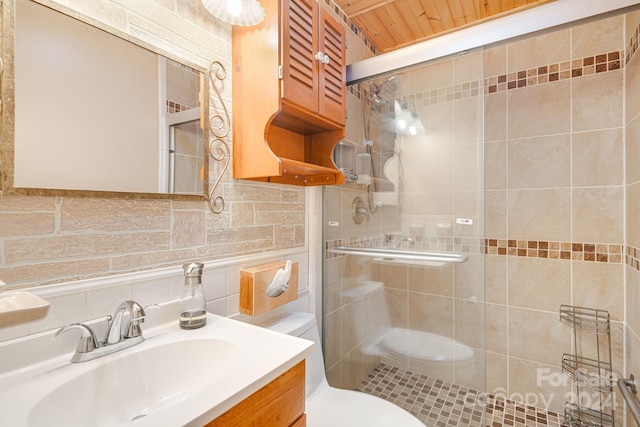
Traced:
<path fill-rule="evenodd" d="M 381 53 L 555 0 L 335 0 Z"/>

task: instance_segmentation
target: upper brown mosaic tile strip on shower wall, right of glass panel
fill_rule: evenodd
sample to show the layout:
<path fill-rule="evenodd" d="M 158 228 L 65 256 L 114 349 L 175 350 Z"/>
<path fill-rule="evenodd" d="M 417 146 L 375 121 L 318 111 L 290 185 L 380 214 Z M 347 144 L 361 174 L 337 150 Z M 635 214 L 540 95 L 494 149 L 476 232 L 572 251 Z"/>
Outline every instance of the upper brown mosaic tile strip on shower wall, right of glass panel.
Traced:
<path fill-rule="evenodd" d="M 624 68 L 624 64 L 621 61 L 623 58 L 624 51 L 619 50 L 488 77 L 484 80 L 484 93 L 504 92 L 558 80 L 619 70 Z"/>

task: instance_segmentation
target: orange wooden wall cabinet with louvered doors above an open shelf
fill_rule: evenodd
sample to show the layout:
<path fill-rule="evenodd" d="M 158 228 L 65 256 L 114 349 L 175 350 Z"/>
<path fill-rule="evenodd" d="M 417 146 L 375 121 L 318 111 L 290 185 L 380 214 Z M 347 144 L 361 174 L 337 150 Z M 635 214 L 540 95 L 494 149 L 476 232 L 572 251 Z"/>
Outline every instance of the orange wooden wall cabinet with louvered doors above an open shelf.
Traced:
<path fill-rule="evenodd" d="M 342 184 L 345 30 L 316 0 L 263 0 L 265 20 L 233 27 L 233 176 Z"/>

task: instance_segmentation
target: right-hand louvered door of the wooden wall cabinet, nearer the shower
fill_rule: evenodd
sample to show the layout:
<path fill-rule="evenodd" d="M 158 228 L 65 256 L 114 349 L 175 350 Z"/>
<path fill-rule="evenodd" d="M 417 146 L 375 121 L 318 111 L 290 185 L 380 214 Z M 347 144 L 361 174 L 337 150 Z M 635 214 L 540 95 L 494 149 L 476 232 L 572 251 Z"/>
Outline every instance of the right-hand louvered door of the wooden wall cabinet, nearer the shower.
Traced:
<path fill-rule="evenodd" d="M 318 113 L 334 122 L 346 123 L 345 30 L 328 12 L 320 11 L 320 46 L 324 55 L 319 71 Z"/>

